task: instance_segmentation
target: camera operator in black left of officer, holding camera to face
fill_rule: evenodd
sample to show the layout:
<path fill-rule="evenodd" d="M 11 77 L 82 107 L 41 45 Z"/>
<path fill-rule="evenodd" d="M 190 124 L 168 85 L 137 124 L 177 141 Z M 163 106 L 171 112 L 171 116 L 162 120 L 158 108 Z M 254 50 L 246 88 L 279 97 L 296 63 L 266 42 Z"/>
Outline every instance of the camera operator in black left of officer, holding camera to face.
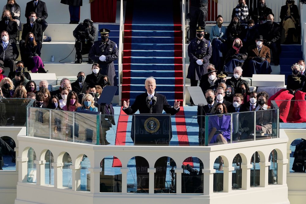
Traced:
<path fill-rule="evenodd" d="M 76 61 L 75 63 L 82 63 L 82 54 L 88 54 L 91 46 L 94 44 L 96 27 L 93 21 L 85 19 L 73 31 L 73 36 L 76 38 Z M 92 60 L 88 60 L 88 64 L 93 64 Z"/>

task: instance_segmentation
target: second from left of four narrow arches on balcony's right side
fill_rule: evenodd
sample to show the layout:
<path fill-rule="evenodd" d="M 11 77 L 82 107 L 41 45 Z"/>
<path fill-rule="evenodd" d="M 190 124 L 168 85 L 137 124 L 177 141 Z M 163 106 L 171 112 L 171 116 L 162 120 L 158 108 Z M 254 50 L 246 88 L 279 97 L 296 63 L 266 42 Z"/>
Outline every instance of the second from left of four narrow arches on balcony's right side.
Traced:
<path fill-rule="evenodd" d="M 233 159 L 232 167 L 234 170 L 232 171 L 232 189 L 240 189 L 242 187 L 242 158 L 240 154 L 236 154 Z"/>

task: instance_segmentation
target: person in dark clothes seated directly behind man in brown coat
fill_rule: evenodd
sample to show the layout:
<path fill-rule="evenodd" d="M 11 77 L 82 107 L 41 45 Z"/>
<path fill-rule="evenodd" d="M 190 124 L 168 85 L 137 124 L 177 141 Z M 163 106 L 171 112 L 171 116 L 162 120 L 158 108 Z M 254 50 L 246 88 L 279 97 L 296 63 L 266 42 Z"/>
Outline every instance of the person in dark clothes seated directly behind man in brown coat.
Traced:
<path fill-rule="evenodd" d="M 247 49 L 250 45 L 253 45 L 258 35 L 259 31 L 254 24 L 254 20 L 248 20 L 248 27 L 241 31 L 243 46 Z"/>

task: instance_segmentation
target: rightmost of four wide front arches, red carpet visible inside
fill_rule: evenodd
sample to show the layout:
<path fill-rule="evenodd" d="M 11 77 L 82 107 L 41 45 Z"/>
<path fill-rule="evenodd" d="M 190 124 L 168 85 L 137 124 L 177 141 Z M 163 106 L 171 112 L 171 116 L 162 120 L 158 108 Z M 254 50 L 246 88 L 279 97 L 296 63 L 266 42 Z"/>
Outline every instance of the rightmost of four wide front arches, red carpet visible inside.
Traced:
<path fill-rule="evenodd" d="M 189 157 L 184 160 L 182 169 L 182 193 L 203 193 L 203 162 Z"/>

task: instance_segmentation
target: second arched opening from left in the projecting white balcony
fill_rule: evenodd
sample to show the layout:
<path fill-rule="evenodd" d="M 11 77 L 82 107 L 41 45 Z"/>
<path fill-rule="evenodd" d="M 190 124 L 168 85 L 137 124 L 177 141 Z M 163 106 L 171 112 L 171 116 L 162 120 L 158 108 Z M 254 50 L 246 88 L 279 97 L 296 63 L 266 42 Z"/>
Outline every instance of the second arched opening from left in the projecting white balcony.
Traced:
<path fill-rule="evenodd" d="M 53 154 L 50 150 L 45 150 L 42 153 L 42 158 L 45 160 L 45 184 L 54 185 L 54 163 Z"/>

